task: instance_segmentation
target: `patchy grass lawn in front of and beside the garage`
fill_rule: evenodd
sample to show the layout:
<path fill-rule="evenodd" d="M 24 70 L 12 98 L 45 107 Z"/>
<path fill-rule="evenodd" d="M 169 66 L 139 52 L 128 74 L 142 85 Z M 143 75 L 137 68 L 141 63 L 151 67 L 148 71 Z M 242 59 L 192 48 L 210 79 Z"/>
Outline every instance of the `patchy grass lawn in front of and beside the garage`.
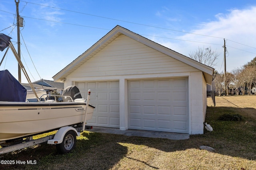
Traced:
<path fill-rule="evenodd" d="M 218 120 L 225 113 L 240 114 L 244 120 Z M 206 122 L 212 132 L 181 141 L 84 131 L 69 154 L 57 154 L 55 146 L 36 145 L 0 155 L 0 160 L 36 160 L 36 164 L 0 164 L 0 169 L 256 169 L 256 96 L 216 97 L 216 107 L 207 108 Z M 200 150 L 201 145 L 213 147 L 215 152 Z"/>

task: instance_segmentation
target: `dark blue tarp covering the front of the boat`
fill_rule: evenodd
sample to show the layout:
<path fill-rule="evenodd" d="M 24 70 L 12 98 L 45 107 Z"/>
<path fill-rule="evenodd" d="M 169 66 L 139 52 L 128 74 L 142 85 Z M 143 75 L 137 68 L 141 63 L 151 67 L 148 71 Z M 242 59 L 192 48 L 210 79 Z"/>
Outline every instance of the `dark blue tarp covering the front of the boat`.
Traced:
<path fill-rule="evenodd" d="M 0 101 L 26 102 L 27 90 L 8 71 L 0 71 Z"/>

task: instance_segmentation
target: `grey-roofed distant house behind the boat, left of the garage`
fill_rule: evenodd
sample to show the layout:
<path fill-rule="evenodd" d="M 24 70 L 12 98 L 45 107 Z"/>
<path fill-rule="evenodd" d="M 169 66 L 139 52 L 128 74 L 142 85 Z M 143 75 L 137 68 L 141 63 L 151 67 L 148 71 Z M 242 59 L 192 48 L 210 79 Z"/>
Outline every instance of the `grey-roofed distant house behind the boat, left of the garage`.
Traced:
<path fill-rule="evenodd" d="M 47 94 L 51 90 L 56 90 L 59 94 L 62 94 L 64 90 L 64 83 L 62 82 L 54 82 L 51 80 L 38 80 L 36 82 L 32 82 L 35 89 L 44 89 L 46 90 Z M 22 86 L 27 90 L 31 90 L 31 87 L 28 83 L 22 83 Z"/>

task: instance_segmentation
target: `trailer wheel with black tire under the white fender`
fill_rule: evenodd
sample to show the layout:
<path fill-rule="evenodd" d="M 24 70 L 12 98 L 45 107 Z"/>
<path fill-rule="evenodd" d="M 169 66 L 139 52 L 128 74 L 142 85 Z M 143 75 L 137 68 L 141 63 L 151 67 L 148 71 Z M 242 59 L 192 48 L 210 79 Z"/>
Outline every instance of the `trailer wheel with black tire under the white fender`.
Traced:
<path fill-rule="evenodd" d="M 68 131 L 65 134 L 62 143 L 56 145 L 56 149 L 60 154 L 68 153 L 75 147 L 76 147 L 76 134 L 72 130 Z"/>

